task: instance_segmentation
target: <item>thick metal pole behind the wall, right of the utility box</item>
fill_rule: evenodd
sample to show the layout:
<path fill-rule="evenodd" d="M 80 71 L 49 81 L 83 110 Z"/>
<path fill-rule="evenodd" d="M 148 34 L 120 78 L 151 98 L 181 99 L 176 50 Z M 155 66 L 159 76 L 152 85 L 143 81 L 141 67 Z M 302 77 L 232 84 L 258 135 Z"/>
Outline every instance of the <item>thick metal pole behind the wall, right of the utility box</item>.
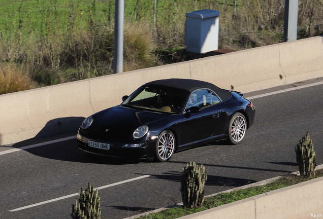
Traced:
<path fill-rule="evenodd" d="M 297 40 L 298 0 L 285 0 L 284 42 Z"/>

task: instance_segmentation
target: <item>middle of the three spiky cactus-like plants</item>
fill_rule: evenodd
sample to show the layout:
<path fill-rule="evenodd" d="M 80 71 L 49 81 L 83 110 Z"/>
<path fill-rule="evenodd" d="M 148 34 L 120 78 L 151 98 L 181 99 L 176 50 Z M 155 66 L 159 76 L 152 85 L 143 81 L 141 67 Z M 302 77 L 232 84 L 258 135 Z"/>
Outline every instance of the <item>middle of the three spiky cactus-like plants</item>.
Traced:
<path fill-rule="evenodd" d="M 201 164 L 191 161 L 184 166 L 184 172 L 181 178 L 181 188 L 183 205 L 188 208 L 201 207 L 204 202 L 205 181 L 207 174 L 205 167 Z"/>

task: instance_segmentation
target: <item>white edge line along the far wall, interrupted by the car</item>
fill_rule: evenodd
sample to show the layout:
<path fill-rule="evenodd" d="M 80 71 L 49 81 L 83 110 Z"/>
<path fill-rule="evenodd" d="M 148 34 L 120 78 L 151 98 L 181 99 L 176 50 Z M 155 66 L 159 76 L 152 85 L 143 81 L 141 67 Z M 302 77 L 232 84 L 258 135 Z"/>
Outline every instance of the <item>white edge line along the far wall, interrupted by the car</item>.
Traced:
<path fill-rule="evenodd" d="M 312 87 L 312 86 L 321 85 L 321 84 L 323 84 L 323 82 L 317 82 L 317 83 L 303 85 L 303 86 L 299 86 L 299 87 L 295 87 L 295 88 L 288 88 L 288 89 L 285 89 L 285 90 L 274 91 L 274 92 L 255 95 L 255 96 L 246 97 L 246 98 L 251 100 L 251 99 L 255 99 L 255 98 L 270 96 L 270 95 L 274 95 L 274 94 L 284 93 L 284 92 L 287 92 L 287 91 L 298 90 L 298 89 Z M 36 147 L 40 147 L 40 146 L 43 146 L 43 145 L 46 145 L 46 144 L 57 143 L 57 142 L 60 142 L 60 141 L 70 140 L 70 139 L 73 139 L 73 138 L 76 138 L 76 136 L 60 138 L 60 139 L 56 139 L 56 140 L 52 140 L 52 141 L 47 141 L 47 142 L 43 142 L 43 143 L 38 143 L 38 144 L 25 146 L 25 147 L 22 147 L 22 148 L 10 149 L 10 150 L 7 150 L 7 151 L 0 152 L 0 155 L 9 154 L 9 153 L 12 153 L 12 152 L 17 152 L 17 151 L 21 151 L 21 150 L 30 149 L 30 148 L 36 148 Z"/>

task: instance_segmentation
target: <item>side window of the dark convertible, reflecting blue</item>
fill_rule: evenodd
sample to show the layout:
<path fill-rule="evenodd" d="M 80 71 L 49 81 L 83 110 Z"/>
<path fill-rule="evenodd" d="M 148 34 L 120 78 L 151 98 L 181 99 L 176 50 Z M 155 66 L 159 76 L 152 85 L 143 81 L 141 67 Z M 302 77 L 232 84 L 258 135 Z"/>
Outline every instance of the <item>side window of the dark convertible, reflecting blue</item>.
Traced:
<path fill-rule="evenodd" d="M 189 97 L 187 108 L 198 106 L 204 108 L 212 105 L 211 92 L 207 89 L 193 91 Z"/>

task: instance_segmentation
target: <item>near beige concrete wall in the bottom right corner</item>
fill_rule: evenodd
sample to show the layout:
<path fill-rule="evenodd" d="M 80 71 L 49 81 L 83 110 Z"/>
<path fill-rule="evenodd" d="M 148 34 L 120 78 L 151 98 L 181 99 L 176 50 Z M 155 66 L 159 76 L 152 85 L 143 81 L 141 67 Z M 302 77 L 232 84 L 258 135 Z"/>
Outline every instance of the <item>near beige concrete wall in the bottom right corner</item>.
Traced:
<path fill-rule="evenodd" d="M 323 213 L 323 177 L 211 208 L 179 219 L 289 219 Z M 312 216 L 314 217 L 314 216 Z"/>

